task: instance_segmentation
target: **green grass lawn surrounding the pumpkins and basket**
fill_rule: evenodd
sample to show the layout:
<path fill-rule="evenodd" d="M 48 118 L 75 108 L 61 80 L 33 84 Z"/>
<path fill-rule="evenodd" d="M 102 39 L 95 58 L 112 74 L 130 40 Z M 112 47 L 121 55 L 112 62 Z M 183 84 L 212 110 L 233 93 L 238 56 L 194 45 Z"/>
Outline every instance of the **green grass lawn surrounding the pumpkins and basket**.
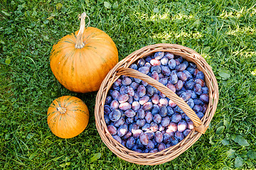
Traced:
<path fill-rule="evenodd" d="M 256 168 L 255 0 L 135 0 L 118 6 L 110 0 L 111 8 L 103 0 L 1 1 L 0 169 Z M 190 47 L 206 58 L 220 100 L 210 128 L 188 151 L 165 164 L 139 166 L 102 142 L 95 127 L 97 93 L 68 91 L 49 65 L 53 44 L 78 30 L 83 11 L 90 26 L 114 40 L 119 60 L 160 42 Z M 64 95 L 78 96 L 90 111 L 87 129 L 69 140 L 53 135 L 46 120 L 50 103 Z M 101 157 L 92 159 L 97 153 Z"/>

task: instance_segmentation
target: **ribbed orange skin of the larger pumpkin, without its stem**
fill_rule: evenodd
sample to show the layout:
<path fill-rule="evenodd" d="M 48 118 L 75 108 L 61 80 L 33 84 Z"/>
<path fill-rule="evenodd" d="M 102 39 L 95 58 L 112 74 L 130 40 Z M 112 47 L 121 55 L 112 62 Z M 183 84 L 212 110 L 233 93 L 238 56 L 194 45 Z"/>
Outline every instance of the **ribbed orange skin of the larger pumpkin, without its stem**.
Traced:
<path fill-rule="evenodd" d="M 88 27 L 82 34 L 85 47 L 76 49 L 77 35 L 78 31 L 66 35 L 53 45 L 50 69 L 60 84 L 70 91 L 97 91 L 118 62 L 117 47 L 104 31 Z"/>

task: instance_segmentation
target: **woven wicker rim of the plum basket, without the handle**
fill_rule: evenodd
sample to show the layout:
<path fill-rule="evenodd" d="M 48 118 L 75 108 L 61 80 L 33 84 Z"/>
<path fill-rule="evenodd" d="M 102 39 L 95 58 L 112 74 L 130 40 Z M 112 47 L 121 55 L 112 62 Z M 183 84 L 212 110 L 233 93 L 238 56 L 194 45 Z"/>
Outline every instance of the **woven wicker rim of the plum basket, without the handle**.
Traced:
<path fill-rule="evenodd" d="M 151 153 L 138 153 L 132 150 L 127 149 L 122 146 L 119 142 L 114 140 L 112 135 L 106 130 L 107 125 L 104 120 L 104 104 L 105 104 L 105 96 L 107 96 L 107 92 L 111 88 L 112 84 L 116 79 L 119 78 L 117 76 L 117 69 L 120 67 L 129 67 L 130 64 L 138 60 L 139 58 L 146 57 L 156 51 L 164 51 L 171 52 L 174 55 L 179 55 L 183 58 L 186 58 L 188 62 L 196 62 L 198 69 L 202 71 L 206 75 L 206 84 L 209 89 L 209 94 L 211 93 L 211 101 L 208 104 L 208 108 L 206 113 L 208 112 L 208 116 L 204 116 L 202 118 L 203 125 L 208 127 L 210 121 L 215 114 L 215 110 L 218 104 L 218 82 L 215 79 L 215 75 L 213 74 L 213 70 L 208 65 L 206 60 L 199 55 L 194 50 L 184 47 L 182 45 L 176 44 L 166 44 L 160 43 L 155 45 L 147 45 L 142 47 L 139 50 L 132 52 L 130 55 L 125 57 L 123 60 L 119 61 L 107 74 L 105 79 L 102 81 L 100 86 L 100 90 L 97 93 L 96 102 L 95 102 L 95 122 L 97 131 L 100 134 L 102 141 L 107 145 L 107 147 L 127 162 L 132 162 L 135 164 L 144 164 L 144 165 L 154 165 L 154 164 L 163 164 L 165 162 L 169 162 L 172 159 L 178 157 L 178 155 L 182 154 L 189 147 L 191 147 L 202 135 L 201 132 L 195 132 L 195 130 L 191 130 L 190 134 L 184 138 L 178 145 L 174 145 L 172 147 L 166 148 L 161 152 L 156 152 L 154 154 Z M 102 110 L 103 109 L 103 110 Z M 102 119 L 103 118 L 103 119 Z M 161 159 L 160 156 L 166 156 L 164 159 Z M 159 158 L 160 157 L 160 158 Z"/>

